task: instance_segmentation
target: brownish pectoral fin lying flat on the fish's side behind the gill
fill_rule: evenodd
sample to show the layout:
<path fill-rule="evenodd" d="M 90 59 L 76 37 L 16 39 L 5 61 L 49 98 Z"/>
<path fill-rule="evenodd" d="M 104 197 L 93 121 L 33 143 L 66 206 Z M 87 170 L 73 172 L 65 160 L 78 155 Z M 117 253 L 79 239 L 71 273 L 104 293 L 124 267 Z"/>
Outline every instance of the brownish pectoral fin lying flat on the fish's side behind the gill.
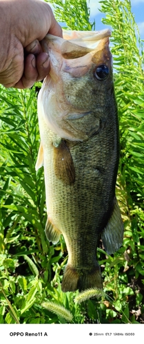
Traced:
<path fill-rule="evenodd" d="M 54 147 L 54 173 L 64 184 L 74 183 L 74 162 L 70 149 L 64 140 L 61 140 L 58 147 Z"/>

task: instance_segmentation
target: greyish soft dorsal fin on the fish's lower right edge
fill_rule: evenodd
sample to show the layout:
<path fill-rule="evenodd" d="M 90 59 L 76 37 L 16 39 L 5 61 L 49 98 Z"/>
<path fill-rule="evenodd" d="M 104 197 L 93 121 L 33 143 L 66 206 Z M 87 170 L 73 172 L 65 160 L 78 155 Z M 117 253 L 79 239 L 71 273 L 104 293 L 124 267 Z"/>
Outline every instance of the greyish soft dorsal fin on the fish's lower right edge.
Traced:
<path fill-rule="evenodd" d="M 105 251 L 109 255 L 112 255 L 112 253 L 116 252 L 116 250 L 119 250 L 123 244 L 123 221 L 116 198 L 112 216 L 107 222 L 107 226 L 101 233 L 101 239 L 103 241 Z"/>

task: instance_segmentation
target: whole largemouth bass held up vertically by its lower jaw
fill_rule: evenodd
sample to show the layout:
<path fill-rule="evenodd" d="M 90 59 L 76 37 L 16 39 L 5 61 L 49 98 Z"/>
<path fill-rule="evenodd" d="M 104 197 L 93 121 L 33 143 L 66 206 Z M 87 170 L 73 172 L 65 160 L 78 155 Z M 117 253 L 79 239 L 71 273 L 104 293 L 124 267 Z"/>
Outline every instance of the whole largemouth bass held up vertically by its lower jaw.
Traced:
<path fill-rule="evenodd" d="M 109 49 L 110 30 L 48 34 L 41 41 L 50 74 L 38 96 L 48 219 L 45 234 L 68 249 L 63 292 L 103 288 L 96 261 L 99 237 L 107 253 L 123 243 L 115 195 L 119 123 Z"/>

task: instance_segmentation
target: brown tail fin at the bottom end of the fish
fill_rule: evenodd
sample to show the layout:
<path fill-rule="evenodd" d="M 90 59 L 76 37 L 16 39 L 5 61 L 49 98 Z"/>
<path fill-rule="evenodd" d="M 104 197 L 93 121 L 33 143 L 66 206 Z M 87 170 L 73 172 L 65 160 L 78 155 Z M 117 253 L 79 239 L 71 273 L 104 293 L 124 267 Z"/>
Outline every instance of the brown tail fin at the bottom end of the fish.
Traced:
<path fill-rule="evenodd" d="M 61 290 L 63 292 L 74 292 L 79 289 L 81 292 L 81 290 L 89 288 L 103 289 L 99 265 L 95 266 L 93 269 L 85 270 L 72 268 L 72 266 L 68 264 L 64 271 Z"/>

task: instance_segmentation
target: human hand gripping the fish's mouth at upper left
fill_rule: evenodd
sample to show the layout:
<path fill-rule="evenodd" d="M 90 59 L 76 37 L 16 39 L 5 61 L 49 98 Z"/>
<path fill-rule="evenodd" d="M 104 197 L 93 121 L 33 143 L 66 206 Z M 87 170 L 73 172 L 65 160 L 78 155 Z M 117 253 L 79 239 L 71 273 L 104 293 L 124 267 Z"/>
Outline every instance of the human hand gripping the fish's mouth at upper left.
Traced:
<path fill-rule="evenodd" d="M 62 37 L 48 3 L 0 0 L 0 32 L 0 83 L 23 89 L 43 80 L 50 65 L 39 41 L 48 32 Z"/>

